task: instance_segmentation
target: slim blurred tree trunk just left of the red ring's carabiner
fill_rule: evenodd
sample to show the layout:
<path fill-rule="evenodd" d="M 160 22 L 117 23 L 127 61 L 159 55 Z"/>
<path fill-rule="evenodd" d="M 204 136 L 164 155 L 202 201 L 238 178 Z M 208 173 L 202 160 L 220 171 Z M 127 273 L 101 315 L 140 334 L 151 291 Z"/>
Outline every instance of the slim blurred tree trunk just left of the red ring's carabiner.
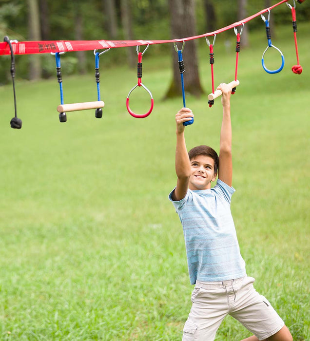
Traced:
<path fill-rule="evenodd" d="M 121 0 L 121 20 L 125 40 L 133 40 L 133 25 L 132 25 L 132 11 L 130 1 Z M 132 68 L 136 66 L 137 56 L 136 47 L 126 47 L 128 65 Z"/>

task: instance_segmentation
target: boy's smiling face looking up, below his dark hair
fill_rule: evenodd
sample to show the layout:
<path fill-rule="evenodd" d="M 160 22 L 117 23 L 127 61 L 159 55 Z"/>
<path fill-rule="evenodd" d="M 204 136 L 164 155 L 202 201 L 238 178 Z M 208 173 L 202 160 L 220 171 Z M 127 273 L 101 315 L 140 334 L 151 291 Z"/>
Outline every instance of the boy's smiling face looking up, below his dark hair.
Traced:
<path fill-rule="evenodd" d="M 191 163 L 191 176 L 189 181 L 189 189 L 210 189 L 211 181 L 216 179 L 214 174 L 214 160 L 207 155 L 195 156 Z"/>

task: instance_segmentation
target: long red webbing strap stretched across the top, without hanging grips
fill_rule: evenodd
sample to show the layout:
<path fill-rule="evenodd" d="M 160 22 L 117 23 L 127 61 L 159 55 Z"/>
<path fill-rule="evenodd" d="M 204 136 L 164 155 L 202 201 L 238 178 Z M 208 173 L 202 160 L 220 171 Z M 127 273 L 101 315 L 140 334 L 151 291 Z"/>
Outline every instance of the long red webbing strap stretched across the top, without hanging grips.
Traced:
<path fill-rule="evenodd" d="M 217 31 L 208 32 L 203 35 L 171 39 L 171 40 L 42 40 L 42 41 L 12 41 L 12 46 L 15 55 L 29 55 L 29 54 L 41 54 L 41 53 L 56 53 L 56 52 L 73 52 L 73 51 L 90 51 L 99 50 L 106 48 L 116 47 L 128 47 L 137 45 L 152 45 L 152 44 L 164 44 L 171 42 L 183 42 L 193 40 L 197 38 L 214 36 L 218 33 L 232 29 L 233 27 L 242 25 L 263 13 L 268 12 L 272 8 L 279 6 L 280 4 L 287 2 L 287 0 L 281 0 L 280 2 L 272 5 L 271 7 L 265 8 L 260 12 L 242 19 L 238 22 L 234 22 L 229 26 L 225 26 Z M 0 55 L 10 55 L 10 48 L 6 42 L 0 42 Z"/>

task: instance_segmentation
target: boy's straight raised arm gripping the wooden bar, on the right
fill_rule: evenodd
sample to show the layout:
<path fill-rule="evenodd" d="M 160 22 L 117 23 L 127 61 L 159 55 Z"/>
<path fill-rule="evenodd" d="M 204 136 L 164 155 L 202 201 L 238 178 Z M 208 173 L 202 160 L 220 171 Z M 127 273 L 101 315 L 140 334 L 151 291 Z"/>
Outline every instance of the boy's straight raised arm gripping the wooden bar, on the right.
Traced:
<path fill-rule="evenodd" d="M 223 121 L 220 134 L 218 178 L 232 186 L 232 123 L 230 97 L 232 89 L 221 83 L 217 89 L 222 91 Z"/>

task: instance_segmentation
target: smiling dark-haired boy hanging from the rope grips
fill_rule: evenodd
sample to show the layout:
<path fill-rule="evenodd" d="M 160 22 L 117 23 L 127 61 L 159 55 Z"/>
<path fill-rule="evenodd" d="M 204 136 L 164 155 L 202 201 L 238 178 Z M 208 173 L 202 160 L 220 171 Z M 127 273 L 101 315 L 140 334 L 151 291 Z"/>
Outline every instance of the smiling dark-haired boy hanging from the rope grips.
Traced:
<path fill-rule="evenodd" d="M 192 309 L 183 329 L 183 341 L 213 341 L 227 314 L 254 335 L 245 340 L 292 341 L 291 333 L 268 300 L 253 288 L 246 275 L 232 220 L 232 128 L 230 96 L 222 91 L 223 121 L 219 156 L 210 147 L 186 149 L 183 122 L 194 117 L 188 108 L 175 116 L 177 183 L 170 193 L 181 220 L 192 293 Z M 213 189 L 211 183 L 218 180 Z"/>

